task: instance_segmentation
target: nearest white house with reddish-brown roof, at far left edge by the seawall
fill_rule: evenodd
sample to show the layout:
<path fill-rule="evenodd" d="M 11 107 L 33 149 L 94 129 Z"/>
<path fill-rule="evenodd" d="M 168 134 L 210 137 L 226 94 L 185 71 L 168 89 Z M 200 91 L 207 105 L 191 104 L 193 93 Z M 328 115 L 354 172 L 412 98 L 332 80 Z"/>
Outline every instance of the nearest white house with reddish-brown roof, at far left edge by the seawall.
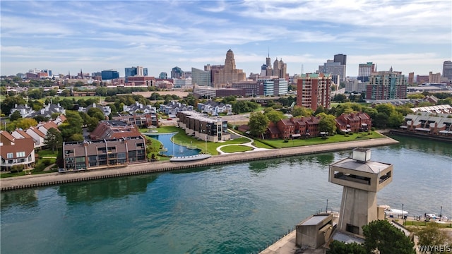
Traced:
<path fill-rule="evenodd" d="M 35 147 L 32 138 L 14 138 L 7 131 L 0 131 L 1 170 L 9 170 L 15 165 L 25 169 L 35 165 Z"/>

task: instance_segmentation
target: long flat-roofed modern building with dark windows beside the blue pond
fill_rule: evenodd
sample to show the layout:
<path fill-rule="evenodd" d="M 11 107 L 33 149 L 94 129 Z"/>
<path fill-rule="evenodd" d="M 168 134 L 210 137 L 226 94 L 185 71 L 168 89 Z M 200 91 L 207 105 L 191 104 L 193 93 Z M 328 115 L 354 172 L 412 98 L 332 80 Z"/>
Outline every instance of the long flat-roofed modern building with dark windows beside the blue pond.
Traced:
<path fill-rule="evenodd" d="M 231 139 L 227 131 L 227 121 L 213 119 L 197 111 L 179 111 L 177 117 L 178 126 L 183 128 L 187 135 L 210 142 Z"/>

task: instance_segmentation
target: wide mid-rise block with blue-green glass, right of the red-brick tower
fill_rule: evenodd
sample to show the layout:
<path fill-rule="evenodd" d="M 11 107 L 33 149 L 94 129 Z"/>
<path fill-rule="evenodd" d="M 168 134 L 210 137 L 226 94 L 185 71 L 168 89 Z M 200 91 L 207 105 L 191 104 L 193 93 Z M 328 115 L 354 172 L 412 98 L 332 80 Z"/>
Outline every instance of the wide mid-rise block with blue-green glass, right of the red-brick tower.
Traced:
<path fill-rule="evenodd" d="M 372 73 L 366 89 L 366 99 L 406 99 L 407 81 L 400 71 Z"/>

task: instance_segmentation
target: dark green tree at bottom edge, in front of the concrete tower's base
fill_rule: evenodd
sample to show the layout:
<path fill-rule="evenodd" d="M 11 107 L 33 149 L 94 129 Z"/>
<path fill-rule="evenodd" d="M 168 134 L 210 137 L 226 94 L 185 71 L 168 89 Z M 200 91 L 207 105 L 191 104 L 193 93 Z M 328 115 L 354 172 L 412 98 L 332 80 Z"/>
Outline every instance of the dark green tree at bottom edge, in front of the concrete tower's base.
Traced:
<path fill-rule="evenodd" d="M 366 237 L 364 248 L 367 253 L 374 253 L 377 249 L 379 253 L 416 253 L 415 244 L 410 241 L 410 238 L 387 220 L 369 222 L 362 226 L 362 231 Z"/>

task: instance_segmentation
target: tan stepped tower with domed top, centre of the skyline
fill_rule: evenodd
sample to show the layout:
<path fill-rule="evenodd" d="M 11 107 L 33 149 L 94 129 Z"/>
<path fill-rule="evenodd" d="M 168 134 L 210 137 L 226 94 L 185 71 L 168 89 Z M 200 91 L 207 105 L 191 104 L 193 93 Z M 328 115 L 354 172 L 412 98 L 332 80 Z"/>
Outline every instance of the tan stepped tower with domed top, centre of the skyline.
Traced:
<path fill-rule="evenodd" d="M 228 84 L 246 80 L 243 70 L 235 68 L 234 52 L 231 49 L 226 53 L 225 67 L 213 75 L 214 87 L 225 87 Z"/>

